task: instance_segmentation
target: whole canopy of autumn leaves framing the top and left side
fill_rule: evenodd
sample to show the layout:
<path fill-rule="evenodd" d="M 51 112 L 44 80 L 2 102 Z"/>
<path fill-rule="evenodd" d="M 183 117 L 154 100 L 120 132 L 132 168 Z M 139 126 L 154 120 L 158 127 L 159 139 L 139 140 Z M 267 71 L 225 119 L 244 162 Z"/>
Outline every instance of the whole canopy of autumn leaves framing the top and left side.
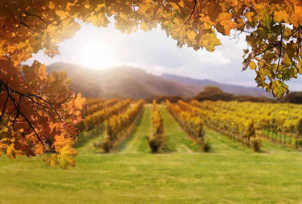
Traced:
<path fill-rule="evenodd" d="M 45 66 L 37 61 L 31 67 L 20 63 L 41 49 L 50 57 L 59 54 L 58 44 L 81 27 L 74 19 L 107 27 L 110 17 L 122 33 L 160 25 L 178 47 L 210 52 L 221 45 L 216 33 L 247 32 L 243 70 L 255 70 L 258 86 L 278 98 L 288 92 L 285 81 L 302 73 L 298 0 L 2 0 L 0 150 L 10 158 L 43 153 L 49 138 L 55 141 L 53 151 L 69 151 L 78 133 L 74 126 L 85 108 L 85 99 L 67 88 L 65 72 L 47 76 Z M 56 156 L 45 162 L 66 166 Z"/>

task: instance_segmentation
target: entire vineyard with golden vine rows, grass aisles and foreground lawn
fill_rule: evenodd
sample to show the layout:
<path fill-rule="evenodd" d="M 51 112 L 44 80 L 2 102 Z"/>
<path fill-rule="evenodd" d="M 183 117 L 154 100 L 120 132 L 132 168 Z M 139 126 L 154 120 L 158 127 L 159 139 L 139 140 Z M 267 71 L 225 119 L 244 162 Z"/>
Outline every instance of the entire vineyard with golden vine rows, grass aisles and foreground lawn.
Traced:
<path fill-rule="evenodd" d="M 42 156 L 14 162 L 1 157 L 3 185 L 10 186 L 11 176 L 16 180 L 0 191 L 0 201 L 44 203 L 47 197 L 45 203 L 56 202 L 54 195 L 63 200 L 68 192 L 72 197 L 62 203 L 278 203 L 282 192 L 282 202 L 302 202 L 301 106 L 158 103 L 88 99 L 78 124 L 77 165 L 62 171 L 44 168 Z M 31 169 L 34 175 L 22 180 L 21 165 L 24 174 Z M 16 189 L 29 189 L 30 196 L 16 196 Z"/>

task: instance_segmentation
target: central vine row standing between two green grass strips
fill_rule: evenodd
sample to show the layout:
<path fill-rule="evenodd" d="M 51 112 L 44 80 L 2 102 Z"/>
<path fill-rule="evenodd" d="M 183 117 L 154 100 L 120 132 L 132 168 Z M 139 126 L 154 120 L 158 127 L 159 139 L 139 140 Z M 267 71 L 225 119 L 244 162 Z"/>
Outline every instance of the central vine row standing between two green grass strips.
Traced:
<path fill-rule="evenodd" d="M 153 112 L 152 112 L 152 135 L 147 136 L 148 144 L 152 152 L 158 152 L 164 143 L 164 124 L 163 118 L 157 100 L 153 100 Z"/>

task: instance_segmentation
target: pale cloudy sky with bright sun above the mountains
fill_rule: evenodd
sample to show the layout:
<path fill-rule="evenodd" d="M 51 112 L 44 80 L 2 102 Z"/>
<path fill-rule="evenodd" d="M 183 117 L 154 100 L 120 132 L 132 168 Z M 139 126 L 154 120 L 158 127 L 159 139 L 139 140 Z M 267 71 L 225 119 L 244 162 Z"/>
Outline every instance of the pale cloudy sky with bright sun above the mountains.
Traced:
<path fill-rule="evenodd" d="M 220 83 L 257 86 L 255 71 L 247 69 L 242 72 L 243 49 L 247 48 L 245 34 L 241 34 L 239 39 L 232 39 L 232 34 L 231 37 L 218 34 L 222 46 L 216 46 L 211 53 L 205 49 L 195 51 L 186 45 L 178 48 L 177 42 L 167 38 L 160 27 L 127 35 L 114 29 L 113 24 L 108 28 L 85 23 L 81 26 L 72 39 L 59 44 L 61 55 L 51 59 L 44 56 L 41 50 L 24 64 L 32 64 L 36 59 L 46 66 L 61 61 L 93 69 L 126 65 L 155 75 L 170 73 Z M 289 90 L 302 91 L 302 76 L 291 79 L 287 85 Z"/>

